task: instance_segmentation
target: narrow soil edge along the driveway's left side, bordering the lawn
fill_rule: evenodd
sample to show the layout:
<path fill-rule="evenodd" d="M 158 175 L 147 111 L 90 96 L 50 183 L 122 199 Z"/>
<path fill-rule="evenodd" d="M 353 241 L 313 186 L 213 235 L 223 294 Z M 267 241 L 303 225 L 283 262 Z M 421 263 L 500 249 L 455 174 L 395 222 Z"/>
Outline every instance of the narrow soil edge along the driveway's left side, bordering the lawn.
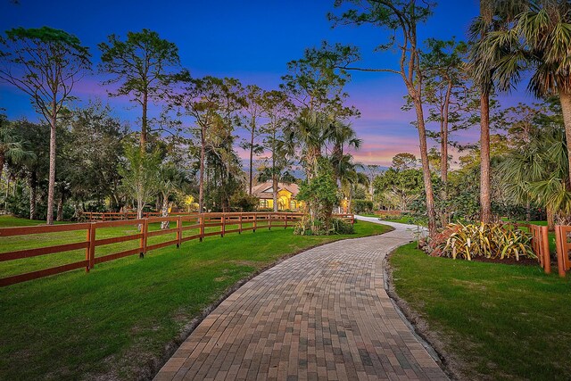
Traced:
<path fill-rule="evenodd" d="M 370 222 L 370 221 L 365 221 L 365 222 Z M 376 223 L 376 222 L 372 222 L 372 223 Z M 389 232 L 394 230 L 394 228 L 389 226 L 389 225 L 385 225 L 382 223 L 379 223 L 378 225 L 384 225 L 387 228 L 387 230 L 383 233 L 380 233 L 380 234 L 372 234 L 372 235 L 368 235 L 368 236 L 382 236 L 385 233 L 389 233 Z M 152 360 L 149 360 L 143 368 L 133 369 L 133 370 L 135 370 L 135 375 L 136 375 L 137 379 L 138 380 L 153 380 L 153 378 L 157 375 L 157 373 L 159 373 L 159 371 L 164 366 L 164 364 L 166 364 L 167 361 L 170 360 L 172 355 L 175 352 L 177 352 L 178 347 L 180 347 L 180 345 L 183 344 L 190 335 L 192 335 L 192 333 L 194 332 L 194 329 L 196 329 L 196 327 L 198 327 L 200 325 L 200 323 L 202 323 L 203 320 L 206 319 L 206 317 L 208 315 L 210 315 L 211 312 L 214 311 L 220 305 L 220 303 L 224 302 L 226 299 L 228 299 L 228 297 L 231 294 L 234 294 L 240 287 L 244 286 L 247 282 L 252 280 L 254 277 L 259 276 L 262 272 L 267 271 L 267 270 L 277 266 L 279 263 L 286 261 L 286 260 L 294 257 L 295 255 L 305 253 L 307 251 L 310 251 L 311 249 L 315 249 L 316 247 L 324 246 L 326 244 L 334 244 L 335 242 L 365 238 L 368 236 L 348 237 L 348 238 L 337 239 L 337 240 L 330 241 L 330 242 L 323 242 L 320 244 L 311 245 L 311 246 L 306 247 L 306 248 L 299 250 L 297 252 L 285 254 L 283 257 L 279 258 L 277 261 L 273 261 L 273 262 L 269 263 L 269 265 L 264 266 L 261 269 L 257 269 L 256 271 L 252 272 L 252 274 L 249 275 L 248 277 L 244 277 L 244 278 L 238 280 L 233 286 L 228 287 L 228 289 L 223 294 L 221 294 L 218 299 L 216 299 L 214 302 L 212 302 L 211 304 L 206 306 L 203 309 L 203 311 L 201 311 L 197 316 L 195 316 L 188 323 L 186 323 L 185 327 L 178 333 L 178 336 L 175 339 L 171 340 L 169 343 L 165 344 L 164 351 L 160 357 L 155 357 Z M 110 375 L 110 374 L 112 374 L 112 371 L 107 373 L 107 375 Z"/>

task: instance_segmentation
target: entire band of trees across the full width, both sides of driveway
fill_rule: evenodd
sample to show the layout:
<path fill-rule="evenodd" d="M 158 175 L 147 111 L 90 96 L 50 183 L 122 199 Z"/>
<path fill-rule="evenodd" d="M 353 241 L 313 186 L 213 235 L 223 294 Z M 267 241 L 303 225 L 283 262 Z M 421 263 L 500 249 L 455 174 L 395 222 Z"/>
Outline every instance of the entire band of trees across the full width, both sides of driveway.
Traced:
<path fill-rule="evenodd" d="M 361 62 L 358 46 L 324 42 L 288 62 L 282 85 L 268 90 L 244 86 L 238 79 L 191 76 L 180 67 L 177 46 L 151 30 L 129 32 L 124 39 L 111 35 L 98 45 L 98 71 L 110 95 L 128 97 L 140 106 L 140 120 L 132 129 L 122 126 L 104 105 L 90 104 L 83 110 L 70 106 L 74 84 L 91 70 L 92 55 L 77 37 L 46 27 L 9 30 L 0 41 L 0 79 L 27 93 L 49 126 L 2 120 L 4 205 L 23 211 L 22 200 L 29 199 L 29 216 L 37 217 L 38 211 L 43 216 L 45 207 L 48 223 L 61 218 L 66 205 L 74 211 L 130 206 L 142 212 L 153 204 L 168 211 L 175 201 L 189 206 L 195 200 L 201 211 L 228 211 L 236 205 L 252 209 L 254 181 L 269 180 L 276 190 L 278 181 L 293 180 L 292 169 L 298 165 L 305 178 L 299 181 L 300 197 L 313 233 L 327 231 L 331 211 L 342 199 L 351 207 L 356 198 L 377 197 L 377 203 L 401 209 L 417 200 L 431 236 L 459 216 L 490 222 L 506 208 L 522 205 L 527 217 L 535 207 L 547 211 L 550 220 L 567 219 L 571 7 L 559 0 L 480 4 L 466 41 L 419 41 L 418 30 L 436 4 L 337 1 L 328 16 L 333 25 L 387 30 L 391 37 L 377 51 L 393 49 L 398 65 L 369 67 Z M 418 167 L 401 168 L 410 161 L 401 154 L 391 170 L 377 176 L 375 166 L 352 161 L 348 150 L 361 142 L 351 121 L 360 113 L 347 104 L 344 87 L 354 70 L 402 79 L 407 90 L 403 109 L 416 116 L 412 124 L 418 129 Z M 541 104 L 502 110 L 496 95 L 527 78 L 528 89 Z M 161 112 L 150 112 L 150 103 Z M 516 118 L 522 115 L 527 120 Z M 514 126 L 522 123 L 533 128 L 526 128 L 525 139 L 517 140 Z M 475 126 L 479 142 L 459 145 L 454 140 L 456 131 Z M 493 128 L 503 132 L 491 134 Z M 238 130 L 244 136 L 241 141 L 236 139 Z M 509 144 L 503 144 L 506 137 Z M 104 146 L 98 140 L 103 138 L 109 139 Z M 79 148 L 80 139 L 97 140 L 89 144 L 98 146 L 97 153 L 81 152 L 85 147 Z M 248 153 L 245 171 L 236 146 Z M 499 146 L 503 152 L 494 153 Z M 451 170 L 451 147 L 464 152 L 457 170 Z M 523 161 L 530 147 L 537 154 L 525 165 L 532 163 L 557 178 L 517 167 L 514 161 Z M 540 154 L 545 150 L 559 156 Z M 87 170 L 74 171 L 73 164 L 66 164 L 74 161 Z M 138 175 L 133 178 L 134 172 Z M 109 173 L 112 178 L 105 177 Z M 415 196 L 418 191 L 424 195 Z"/>

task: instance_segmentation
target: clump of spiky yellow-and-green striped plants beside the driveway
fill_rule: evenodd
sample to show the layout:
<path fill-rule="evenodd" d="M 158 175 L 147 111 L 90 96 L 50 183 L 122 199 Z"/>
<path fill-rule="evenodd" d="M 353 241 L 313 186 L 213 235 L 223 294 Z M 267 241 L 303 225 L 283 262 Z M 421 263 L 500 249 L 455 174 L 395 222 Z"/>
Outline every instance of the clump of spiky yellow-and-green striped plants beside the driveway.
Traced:
<path fill-rule="evenodd" d="M 532 236 L 510 225 L 450 224 L 429 244 L 434 256 L 471 261 L 476 257 L 491 259 L 537 258 L 531 245 Z"/>

